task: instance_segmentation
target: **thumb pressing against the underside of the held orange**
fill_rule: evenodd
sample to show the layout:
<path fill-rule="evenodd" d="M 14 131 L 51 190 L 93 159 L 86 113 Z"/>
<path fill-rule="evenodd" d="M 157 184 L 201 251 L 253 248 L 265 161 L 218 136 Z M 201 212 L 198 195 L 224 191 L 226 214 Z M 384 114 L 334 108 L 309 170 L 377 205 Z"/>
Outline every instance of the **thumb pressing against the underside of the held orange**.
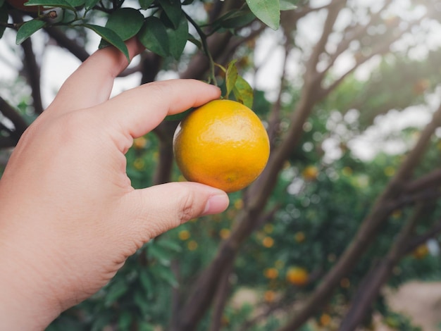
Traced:
<path fill-rule="evenodd" d="M 170 182 L 135 189 L 126 197 L 130 236 L 143 243 L 192 218 L 221 213 L 229 203 L 225 192 L 196 182 Z"/>

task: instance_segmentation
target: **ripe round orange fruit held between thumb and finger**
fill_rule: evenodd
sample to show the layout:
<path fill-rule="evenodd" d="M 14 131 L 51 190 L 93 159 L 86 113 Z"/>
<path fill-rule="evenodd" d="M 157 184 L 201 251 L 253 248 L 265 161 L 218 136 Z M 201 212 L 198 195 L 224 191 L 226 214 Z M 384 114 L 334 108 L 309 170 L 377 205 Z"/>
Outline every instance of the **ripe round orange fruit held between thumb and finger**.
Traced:
<path fill-rule="evenodd" d="M 173 151 L 187 180 L 235 192 L 261 174 L 270 146 L 265 127 L 251 109 L 236 101 L 215 100 L 182 120 Z"/>

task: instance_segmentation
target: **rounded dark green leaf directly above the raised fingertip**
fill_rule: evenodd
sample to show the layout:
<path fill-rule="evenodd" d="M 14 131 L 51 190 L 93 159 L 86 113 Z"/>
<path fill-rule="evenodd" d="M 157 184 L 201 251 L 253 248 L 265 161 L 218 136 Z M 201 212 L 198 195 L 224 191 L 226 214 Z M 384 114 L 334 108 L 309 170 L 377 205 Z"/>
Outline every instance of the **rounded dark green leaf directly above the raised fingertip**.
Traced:
<path fill-rule="evenodd" d="M 125 41 L 135 36 L 141 30 L 143 23 L 144 16 L 136 9 L 119 8 L 108 16 L 106 27 Z"/>

